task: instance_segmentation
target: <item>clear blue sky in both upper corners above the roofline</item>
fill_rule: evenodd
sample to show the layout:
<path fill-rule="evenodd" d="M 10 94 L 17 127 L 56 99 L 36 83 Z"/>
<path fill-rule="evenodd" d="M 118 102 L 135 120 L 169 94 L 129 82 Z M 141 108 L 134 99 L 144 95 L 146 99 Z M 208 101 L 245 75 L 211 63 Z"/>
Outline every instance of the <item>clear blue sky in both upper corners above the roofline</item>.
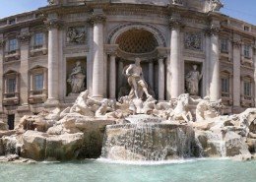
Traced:
<path fill-rule="evenodd" d="M 222 13 L 256 26 L 256 0 L 222 0 L 222 2 L 224 3 Z M 47 0 L 0 0 L 0 19 L 46 5 Z"/>

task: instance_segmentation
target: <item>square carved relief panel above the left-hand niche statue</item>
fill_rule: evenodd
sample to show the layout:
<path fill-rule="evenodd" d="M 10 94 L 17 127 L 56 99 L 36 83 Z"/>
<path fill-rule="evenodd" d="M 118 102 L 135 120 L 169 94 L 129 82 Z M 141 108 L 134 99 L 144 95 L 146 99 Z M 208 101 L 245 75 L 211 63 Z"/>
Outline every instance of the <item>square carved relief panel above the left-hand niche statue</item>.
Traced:
<path fill-rule="evenodd" d="M 67 30 L 67 42 L 83 44 L 87 41 L 87 31 L 85 27 L 69 27 Z"/>

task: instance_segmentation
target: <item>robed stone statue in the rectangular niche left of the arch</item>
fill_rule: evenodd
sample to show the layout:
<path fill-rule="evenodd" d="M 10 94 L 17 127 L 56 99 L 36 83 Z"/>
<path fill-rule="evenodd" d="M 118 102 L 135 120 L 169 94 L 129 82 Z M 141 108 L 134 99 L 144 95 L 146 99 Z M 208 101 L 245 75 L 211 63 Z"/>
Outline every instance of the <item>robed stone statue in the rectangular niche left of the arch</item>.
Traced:
<path fill-rule="evenodd" d="M 77 61 L 67 82 L 71 86 L 72 93 L 80 93 L 85 90 L 85 71 L 81 66 L 81 62 Z"/>

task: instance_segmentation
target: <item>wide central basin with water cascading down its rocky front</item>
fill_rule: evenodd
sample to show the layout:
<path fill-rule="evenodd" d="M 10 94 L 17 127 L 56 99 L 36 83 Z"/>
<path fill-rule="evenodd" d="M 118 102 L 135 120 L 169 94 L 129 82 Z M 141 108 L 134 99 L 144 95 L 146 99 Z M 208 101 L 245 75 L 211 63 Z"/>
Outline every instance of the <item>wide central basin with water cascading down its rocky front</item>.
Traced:
<path fill-rule="evenodd" d="M 193 156 L 194 131 L 187 125 L 147 122 L 109 125 L 101 157 L 114 160 L 165 160 Z"/>

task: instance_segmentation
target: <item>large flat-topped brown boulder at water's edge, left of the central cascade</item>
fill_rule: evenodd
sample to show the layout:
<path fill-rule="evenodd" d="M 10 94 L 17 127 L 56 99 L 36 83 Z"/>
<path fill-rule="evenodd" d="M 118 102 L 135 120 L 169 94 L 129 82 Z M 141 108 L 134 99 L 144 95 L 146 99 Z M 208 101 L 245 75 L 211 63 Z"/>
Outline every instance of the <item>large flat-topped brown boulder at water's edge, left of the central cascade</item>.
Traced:
<path fill-rule="evenodd" d="M 50 136 L 36 131 L 27 131 L 23 136 L 21 155 L 34 160 L 48 157 L 58 160 L 76 158 L 75 152 L 83 146 L 83 134 Z"/>

